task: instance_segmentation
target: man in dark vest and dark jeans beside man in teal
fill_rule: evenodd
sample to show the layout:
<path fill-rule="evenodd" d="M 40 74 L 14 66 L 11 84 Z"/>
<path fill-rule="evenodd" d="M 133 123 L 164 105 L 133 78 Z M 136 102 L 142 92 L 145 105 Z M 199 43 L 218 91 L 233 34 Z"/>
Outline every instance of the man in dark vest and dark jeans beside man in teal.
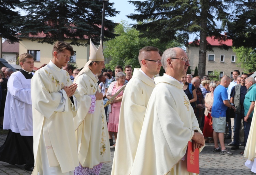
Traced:
<path fill-rule="evenodd" d="M 230 102 L 235 105 L 236 108 L 236 116 L 234 118 L 234 145 L 231 147 L 231 150 L 239 149 L 239 140 L 241 143 L 244 142 L 244 99 L 247 93 L 247 88 L 245 86 L 245 79 L 249 75 L 247 73 L 243 73 L 241 75 L 241 84 L 235 85 L 231 89 L 230 93 Z"/>

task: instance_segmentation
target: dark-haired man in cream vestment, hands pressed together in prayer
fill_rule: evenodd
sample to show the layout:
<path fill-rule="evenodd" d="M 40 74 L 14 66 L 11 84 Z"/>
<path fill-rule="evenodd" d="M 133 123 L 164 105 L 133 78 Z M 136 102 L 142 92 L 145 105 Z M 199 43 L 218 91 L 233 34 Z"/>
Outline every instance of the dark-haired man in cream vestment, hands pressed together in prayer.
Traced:
<path fill-rule="evenodd" d="M 32 175 L 73 175 L 79 165 L 73 117 L 80 104 L 77 84 L 66 66 L 74 54 L 69 43 L 57 41 L 53 59 L 31 81 L 35 167 Z"/>

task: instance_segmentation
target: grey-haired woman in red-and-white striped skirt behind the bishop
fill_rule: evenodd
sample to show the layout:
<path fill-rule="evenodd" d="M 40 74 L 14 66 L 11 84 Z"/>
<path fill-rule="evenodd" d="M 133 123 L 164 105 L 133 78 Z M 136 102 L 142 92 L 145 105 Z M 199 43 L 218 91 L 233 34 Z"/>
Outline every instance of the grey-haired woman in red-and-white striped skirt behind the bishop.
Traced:
<path fill-rule="evenodd" d="M 120 88 L 125 84 L 125 74 L 123 72 L 118 72 L 115 76 L 116 82 L 112 82 L 109 86 L 108 92 L 106 93 L 106 98 L 110 99 Z M 112 139 L 114 133 L 115 139 L 117 138 L 118 122 L 119 122 L 119 112 L 121 107 L 121 101 L 123 99 L 123 91 L 121 91 L 116 98 L 112 101 L 111 107 L 109 107 L 109 137 Z M 115 144 L 110 146 L 114 149 Z"/>

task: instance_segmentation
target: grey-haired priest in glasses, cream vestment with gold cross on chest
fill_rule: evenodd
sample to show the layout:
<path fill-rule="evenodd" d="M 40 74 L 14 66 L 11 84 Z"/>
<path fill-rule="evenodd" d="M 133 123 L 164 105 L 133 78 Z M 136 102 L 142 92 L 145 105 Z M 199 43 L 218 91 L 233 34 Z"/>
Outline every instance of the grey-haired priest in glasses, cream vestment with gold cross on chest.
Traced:
<path fill-rule="evenodd" d="M 192 140 L 193 150 L 204 146 L 204 137 L 193 108 L 180 81 L 189 66 L 186 52 L 169 48 L 161 63 L 166 73 L 154 78 L 154 88 L 147 105 L 138 149 L 131 175 L 184 175 L 186 150 Z M 184 161 L 184 159 L 185 161 Z"/>

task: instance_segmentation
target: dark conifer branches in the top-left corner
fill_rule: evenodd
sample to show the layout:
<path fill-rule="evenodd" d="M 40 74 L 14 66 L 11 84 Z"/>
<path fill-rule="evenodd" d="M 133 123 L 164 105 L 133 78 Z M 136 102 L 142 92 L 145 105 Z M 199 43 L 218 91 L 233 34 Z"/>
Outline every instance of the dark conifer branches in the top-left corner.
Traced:
<path fill-rule="evenodd" d="M 10 43 L 18 42 L 16 37 L 20 27 L 20 15 L 15 12 L 19 0 L 0 0 L 0 37 Z"/>

